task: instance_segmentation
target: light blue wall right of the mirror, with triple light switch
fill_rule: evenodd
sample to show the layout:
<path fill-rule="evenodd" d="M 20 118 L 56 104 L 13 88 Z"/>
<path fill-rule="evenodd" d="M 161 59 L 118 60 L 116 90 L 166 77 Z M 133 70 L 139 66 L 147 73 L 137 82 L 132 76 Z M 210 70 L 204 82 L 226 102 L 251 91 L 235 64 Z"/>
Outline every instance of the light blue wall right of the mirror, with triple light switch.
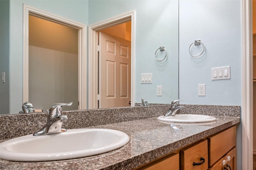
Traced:
<path fill-rule="evenodd" d="M 242 105 L 240 0 L 180 0 L 179 91 L 182 104 Z M 206 51 L 188 53 L 200 39 Z M 193 54 L 198 54 L 193 51 Z M 231 79 L 211 80 L 211 68 L 230 66 Z M 198 96 L 206 84 L 206 96 Z M 237 127 L 237 169 L 242 169 L 242 128 Z"/>

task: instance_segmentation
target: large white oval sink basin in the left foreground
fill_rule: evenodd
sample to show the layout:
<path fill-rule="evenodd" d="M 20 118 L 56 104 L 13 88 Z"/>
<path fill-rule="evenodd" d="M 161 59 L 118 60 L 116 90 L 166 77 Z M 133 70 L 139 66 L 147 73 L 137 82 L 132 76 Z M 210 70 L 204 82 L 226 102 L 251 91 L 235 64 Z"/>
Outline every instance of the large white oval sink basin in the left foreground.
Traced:
<path fill-rule="evenodd" d="M 14 161 L 47 161 L 92 156 L 118 149 L 129 136 L 112 129 L 68 129 L 66 132 L 26 135 L 0 143 L 0 158 Z"/>

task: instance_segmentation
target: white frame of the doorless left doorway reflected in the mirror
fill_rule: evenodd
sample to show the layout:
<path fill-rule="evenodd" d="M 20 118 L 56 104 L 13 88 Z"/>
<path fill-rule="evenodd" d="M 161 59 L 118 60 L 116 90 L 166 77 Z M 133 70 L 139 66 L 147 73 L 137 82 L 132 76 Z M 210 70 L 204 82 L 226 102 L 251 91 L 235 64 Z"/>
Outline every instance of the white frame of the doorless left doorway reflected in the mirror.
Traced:
<path fill-rule="evenodd" d="M 86 25 L 23 4 L 23 102 L 28 101 L 28 15 L 78 29 L 78 109 L 86 109 Z"/>

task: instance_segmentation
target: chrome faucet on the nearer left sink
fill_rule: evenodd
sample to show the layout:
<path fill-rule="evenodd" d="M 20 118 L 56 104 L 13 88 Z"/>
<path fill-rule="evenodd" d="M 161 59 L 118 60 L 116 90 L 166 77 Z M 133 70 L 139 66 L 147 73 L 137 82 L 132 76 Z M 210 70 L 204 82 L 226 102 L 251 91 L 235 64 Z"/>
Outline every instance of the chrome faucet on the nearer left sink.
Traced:
<path fill-rule="evenodd" d="M 62 129 L 62 123 L 68 119 L 66 115 L 61 115 L 62 106 L 71 106 L 73 103 L 57 103 L 53 104 L 48 112 L 47 122 L 39 131 L 35 132 L 33 136 L 50 135 L 67 131 Z"/>

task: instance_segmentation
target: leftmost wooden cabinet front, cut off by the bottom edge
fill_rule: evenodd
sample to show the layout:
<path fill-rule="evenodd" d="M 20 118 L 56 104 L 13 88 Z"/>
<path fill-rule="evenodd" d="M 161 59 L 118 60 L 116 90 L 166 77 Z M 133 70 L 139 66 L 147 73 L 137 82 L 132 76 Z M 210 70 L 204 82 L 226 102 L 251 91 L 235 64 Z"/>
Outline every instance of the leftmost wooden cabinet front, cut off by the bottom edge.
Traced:
<path fill-rule="evenodd" d="M 138 170 L 179 170 L 180 167 L 180 155 L 179 154 L 171 154 L 151 164 L 148 164 Z"/>

